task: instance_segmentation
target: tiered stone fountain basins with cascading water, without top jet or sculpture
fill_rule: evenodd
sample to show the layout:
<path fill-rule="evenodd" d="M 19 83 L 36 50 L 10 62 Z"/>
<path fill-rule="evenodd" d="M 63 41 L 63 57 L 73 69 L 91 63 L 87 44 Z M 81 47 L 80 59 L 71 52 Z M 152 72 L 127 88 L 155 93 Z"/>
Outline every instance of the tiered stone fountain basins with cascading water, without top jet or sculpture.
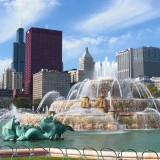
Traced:
<path fill-rule="evenodd" d="M 160 127 L 159 101 L 144 84 L 131 79 L 85 80 L 73 86 L 68 97 L 54 101 L 49 112 L 76 130 Z"/>

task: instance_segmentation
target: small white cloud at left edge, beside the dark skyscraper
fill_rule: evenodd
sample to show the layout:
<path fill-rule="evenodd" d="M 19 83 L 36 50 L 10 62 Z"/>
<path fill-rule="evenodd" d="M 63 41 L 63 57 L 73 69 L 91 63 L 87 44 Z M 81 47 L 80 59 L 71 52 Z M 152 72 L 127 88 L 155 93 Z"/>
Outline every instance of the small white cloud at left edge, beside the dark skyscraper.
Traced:
<path fill-rule="evenodd" d="M 11 67 L 12 59 L 0 59 L 0 81 L 3 70 Z"/>

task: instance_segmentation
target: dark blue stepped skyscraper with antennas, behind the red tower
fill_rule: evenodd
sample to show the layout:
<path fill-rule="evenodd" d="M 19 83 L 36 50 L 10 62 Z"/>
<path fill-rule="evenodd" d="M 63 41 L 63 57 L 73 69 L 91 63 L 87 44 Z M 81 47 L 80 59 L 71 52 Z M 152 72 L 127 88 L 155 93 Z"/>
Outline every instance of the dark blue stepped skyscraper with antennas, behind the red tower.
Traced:
<path fill-rule="evenodd" d="M 13 43 L 13 62 L 12 69 L 16 72 L 22 72 L 24 79 L 24 57 L 25 57 L 25 43 L 24 43 L 24 29 L 17 30 L 16 42 Z"/>

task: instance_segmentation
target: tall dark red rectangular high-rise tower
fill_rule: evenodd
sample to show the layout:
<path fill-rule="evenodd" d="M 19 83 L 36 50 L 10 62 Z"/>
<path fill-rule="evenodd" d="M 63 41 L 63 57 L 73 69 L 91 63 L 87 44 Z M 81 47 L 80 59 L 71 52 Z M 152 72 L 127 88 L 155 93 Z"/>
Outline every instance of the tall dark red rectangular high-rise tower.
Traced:
<path fill-rule="evenodd" d="M 26 32 L 25 94 L 32 95 L 33 74 L 42 68 L 63 70 L 62 31 L 30 28 Z"/>

